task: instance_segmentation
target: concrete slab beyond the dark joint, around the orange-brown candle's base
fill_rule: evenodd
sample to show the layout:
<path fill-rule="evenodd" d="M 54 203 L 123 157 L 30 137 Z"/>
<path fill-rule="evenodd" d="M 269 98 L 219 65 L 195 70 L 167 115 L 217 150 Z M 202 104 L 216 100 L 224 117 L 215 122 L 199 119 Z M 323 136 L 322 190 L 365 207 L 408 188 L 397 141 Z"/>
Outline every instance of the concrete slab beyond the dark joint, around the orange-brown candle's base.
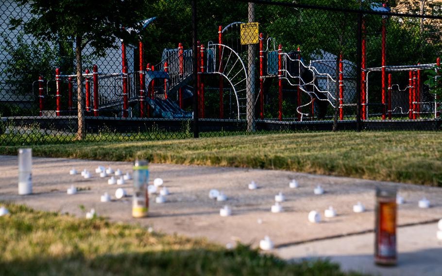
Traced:
<path fill-rule="evenodd" d="M 436 239 L 437 223 L 398 228 L 398 263 L 394 267 L 376 266 L 374 234 L 330 239 L 278 248 L 284 259 L 330 259 L 345 271 L 372 275 L 442 275 L 442 241 Z"/>

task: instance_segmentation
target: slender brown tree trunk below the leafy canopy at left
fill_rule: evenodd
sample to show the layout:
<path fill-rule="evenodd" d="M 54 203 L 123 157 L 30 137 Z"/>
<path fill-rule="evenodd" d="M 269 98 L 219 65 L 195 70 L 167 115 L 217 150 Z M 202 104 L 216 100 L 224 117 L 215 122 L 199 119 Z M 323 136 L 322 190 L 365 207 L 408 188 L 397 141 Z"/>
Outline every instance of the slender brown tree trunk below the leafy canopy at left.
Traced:
<path fill-rule="evenodd" d="M 85 133 L 85 104 L 83 97 L 83 61 L 81 54 L 82 36 L 76 37 L 75 55 L 77 58 L 77 107 L 78 107 L 78 130 L 76 140 L 83 140 Z"/>

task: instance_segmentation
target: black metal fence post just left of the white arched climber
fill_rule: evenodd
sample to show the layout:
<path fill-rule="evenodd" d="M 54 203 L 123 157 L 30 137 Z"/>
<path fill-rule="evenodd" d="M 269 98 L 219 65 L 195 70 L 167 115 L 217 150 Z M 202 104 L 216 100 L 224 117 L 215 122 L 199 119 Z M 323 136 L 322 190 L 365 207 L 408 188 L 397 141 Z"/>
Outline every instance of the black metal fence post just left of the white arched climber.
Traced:
<path fill-rule="evenodd" d="M 193 138 L 200 137 L 198 125 L 198 61 L 197 61 L 197 0 L 192 0 L 192 61 L 193 61 Z"/>

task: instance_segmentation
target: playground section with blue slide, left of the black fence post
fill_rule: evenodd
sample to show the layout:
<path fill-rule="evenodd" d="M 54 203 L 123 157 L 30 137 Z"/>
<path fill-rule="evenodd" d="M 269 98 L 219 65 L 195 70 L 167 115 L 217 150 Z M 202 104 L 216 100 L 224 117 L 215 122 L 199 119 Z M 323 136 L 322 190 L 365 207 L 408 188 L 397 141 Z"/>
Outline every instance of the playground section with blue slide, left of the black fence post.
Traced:
<path fill-rule="evenodd" d="M 122 118 L 134 117 L 130 112 L 129 105 L 139 103 L 139 117 L 160 117 L 160 118 L 191 118 L 191 114 L 182 110 L 183 97 L 191 97 L 191 91 L 183 87 L 191 77 L 191 68 L 184 66 L 185 61 L 191 59 L 191 52 L 178 51 L 166 53 L 163 61 L 156 65 L 147 64 L 144 69 L 143 45 L 140 46 L 140 70 L 128 72 L 128 65 L 125 58 L 125 45 L 121 44 L 122 52 L 122 73 L 101 74 L 98 66 L 94 65 L 93 72 L 88 69 L 83 74 L 85 87 L 85 112 L 87 116 L 99 117 L 100 113 L 119 113 Z M 178 54 L 179 52 L 179 54 Z M 186 64 L 190 64 L 186 62 Z M 56 70 L 55 75 L 55 98 L 56 116 L 70 115 L 75 111 L 76 104 L 76 75 L 63 75 Z M 164 86 L 155 86 L 156 79 L 164 79 Z M 52 80 L 47 82 L 50 86 Z M 40 116 L 44 113 L 44 81 L 42 77 L 38 80 L 40 98 Z M 146 85 L 145 85 L 146 84 Z M 62 89 L 67 88 L 68 109 L 62 109 Z M 179 91 L 180 105 L 168 99 L 169 93 Z M 187 94 L 185 94 L 187 93 Z M 48 90 L 47 93 L 48 94 Z M 185 94 L 185 96 L 183 96 Z M 147 102 L 147 108 L 146 103 Z"/>

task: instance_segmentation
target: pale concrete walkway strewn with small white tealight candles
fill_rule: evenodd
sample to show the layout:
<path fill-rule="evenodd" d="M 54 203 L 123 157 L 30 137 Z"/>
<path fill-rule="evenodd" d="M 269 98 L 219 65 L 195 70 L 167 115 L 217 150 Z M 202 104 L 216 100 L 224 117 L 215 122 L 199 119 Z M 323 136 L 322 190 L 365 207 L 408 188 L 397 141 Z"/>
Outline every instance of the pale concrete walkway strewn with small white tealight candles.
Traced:
<path fill-rule="evenodd" d="M 332 259 L 340 262 L 345 269 L 370 272 L 374 267 L 373 241 L 370 240 L 373 239 L 373 233 L 331 238 L 373 230 L 376 185 L 397 187 L 399 194 L 405 198 L 406 204 L 399 207 L 399 225 L 421 224 L 442 218 L 440 188 L 287 171 L 151 164 L 151 182 L 155 177 L 163 178 L 164 186 L 169 188 L 171 194 L 167 197 L 166 204 L 155 204 L 154 196 L 151 196 L 150 216 L 145 219 L 133 219 L 130 197 L 115 199 L 115 190 L 120 186 L 108 185 L 108 178 L 100 178 L 94 172 L 99 165 L 111 166 L 123 172 L 132 171 L 132 164 L 129 162 L 34 158 L 34 194 L 19 196 L 17 195 L 17 156 L 0 155 L 0 201 L 14 201 L 37 209 L 67 212 L 80 217 L 85 216 L 85 212 L 80 208 L 83 205 L 87 210 L 95 208 L 99 215 L 108 217 L 114 222 L 152 226 L 155 230 L 169 234 L 206 237 L 221 244 L 234 244 L 240 241 L 257 246 L 259 240 L 269 235 L 276 247 L 279 247 L 274 252 L 286 259 L 306 256 L 333 257 Z M 68 173 L 72 167 L 79 172 L 87 169 L 93 177 L 84 179 L 81 175 L 71 176 Z M 289 181 L 293 178 L 300 184 L 297 189 L 289 188 Z M 252 180 L 257 183 L 259 189 L 247 189 L 247 184 Z M 76 195 L 68 195 L 66 190 L 70 185 L 82 191 Z M 323 195 L 313 194 L 313 189 L 317 185 L 321 185 L 325 190 Z M 132 193 L 132 181 L 121 187 L 126 189 L 129 195 Z M 228 200 L 217 202 L 209 199 L 210 189 L 221 190 L 227 195 Z M 270 212 L 270 208 L 274 204 L 274 195 L 279 191 L 286 196 L 286 202 L 282 203 L 284 212 L 274 214 Z M 104 192 L 108 192 L 114 200 L 101 203 L 100 195 Z M 418 201 L 424 196 L 432 203 L 430 209 L 417 207 Z M 365 205 L 367 212 L 353 213 L 352 206 L 358 201 Z M 220 217 L 219 209 L 224 205 L 232 208 L 231 217 Z M 310 210 L 317 210 L 323 214 L 323 210 L 329 206 L 333 206 L 338 211 L 336 218 L 323 218 L 320 224 L 311 224 L 307 221 Z M 400 260 L 397 268 L 399 272 L 408 271 L 403 268 L 407 267 L 408 259 L 413 259 L 415 253 L 419 257 L 423 256 L 423 252 L 428 253 L 428 256 L 440 252 L 438 250 L 441 249 L 441 245 L 436 240 L 437 229 L 433 227 L 431 230 L 430 225 L 404 227 L 399 230 L 399 250 L 409 248 L 408 251 L 404 251 L 408 254 L 404 255 L 405 259 Z M 401 231 L 409 228 L 411 232 L 419 233 L 418 230 L 424 231 L 426 227 L 428 227 L 427 233 L 410 234 L 409 238 L 403 240 L 401 238 Z M 422 235 L 428 237 L 427 243 L 423 242 L 420 237 Z M 318 239 L 324 241 L 314 242 Z M 306 241 L 313 242 L 306 243 Z M 401 245 L 401 242 L 416 243 L 422 245 L 422 248 L 407 247 Z M 302 244 L 293 245 L 298 243 Z M 339 247 L 337 244 L 344 246 Z M 440 256 L 442 255 L 439 254 Z M 420 263 L 429 261 L 430 266 L 439 264 L 431 261 L 431 258 L 420 259 Z M 359 268 L 357 264 L 366 265 Z M 392 271 L 394 269 L 388 270 L 385 275 L 390 275 Z M 434 272 L 431 269 L 428 271 Z M 384 274 L 383 271 L 373 270 L 373 272 Z M 425 268 L 419 270 L 419 274 L 425 274 Z"/>

